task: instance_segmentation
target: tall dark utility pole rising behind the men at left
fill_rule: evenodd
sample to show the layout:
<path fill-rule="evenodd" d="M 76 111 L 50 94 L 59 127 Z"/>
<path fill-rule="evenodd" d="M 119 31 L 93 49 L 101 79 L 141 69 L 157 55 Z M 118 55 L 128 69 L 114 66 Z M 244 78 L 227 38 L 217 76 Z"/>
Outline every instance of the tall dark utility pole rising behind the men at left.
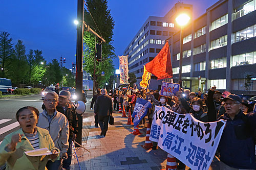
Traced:
<path fill-rule="evenodd" d="M 82 51 L 83 51 L 83 0 L 77 0 L 77 41 L 76 41 L 76 95 L 82 100 Z M 78 134 L 76 141 L 82 144 L 82 114 L 78 114 Z"/>

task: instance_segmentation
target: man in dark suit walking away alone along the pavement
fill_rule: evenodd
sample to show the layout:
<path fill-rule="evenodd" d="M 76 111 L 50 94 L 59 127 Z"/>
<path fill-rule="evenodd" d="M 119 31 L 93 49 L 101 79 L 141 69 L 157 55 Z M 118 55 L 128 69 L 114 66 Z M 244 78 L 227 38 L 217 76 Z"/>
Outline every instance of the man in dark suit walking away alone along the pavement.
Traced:
<path fill-rule="evenodd" d="M 94 112 L 98 115 L 98 122 L 101 129 L 100 135 L 105 136 L 106 131 L 108 131 L 109 117 L 113 113 L 112 99 L 107 94 L 106 89 L 102 89 L 102 95 L 98 96 L 94 106 Z"/>

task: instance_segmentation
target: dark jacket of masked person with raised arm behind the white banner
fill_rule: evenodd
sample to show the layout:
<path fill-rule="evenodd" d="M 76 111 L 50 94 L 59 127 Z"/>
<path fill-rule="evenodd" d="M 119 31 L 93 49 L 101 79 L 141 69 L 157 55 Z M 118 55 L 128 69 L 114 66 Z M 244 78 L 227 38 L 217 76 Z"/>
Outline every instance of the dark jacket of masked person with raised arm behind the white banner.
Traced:
<path fill-rule="evenodd" d="M 191 106 L 189 106 L 188 102 L 186 102 L 184 98 L 181 98 L 180 101 L 181 105 L 186 109 L 187 113 L 192 113 L 196 119 L 202 122 L 208 122 L 208 115 L 207 113 L 203 112 L 202 108 L 196 112 Z"/>

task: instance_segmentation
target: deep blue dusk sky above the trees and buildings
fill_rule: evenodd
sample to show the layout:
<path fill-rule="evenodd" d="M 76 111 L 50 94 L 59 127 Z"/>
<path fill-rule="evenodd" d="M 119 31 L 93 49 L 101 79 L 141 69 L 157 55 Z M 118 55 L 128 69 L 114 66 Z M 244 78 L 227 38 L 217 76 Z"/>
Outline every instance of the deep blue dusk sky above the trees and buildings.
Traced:
<path fill-rule="evenodd" d="M 115 21 L 113 46 L 115 54 L 123 55 L 125 47 L 131 42 L 148 16 L 164 16 L 178 1 L 170 0 L 111 0 L 108 1 L 111 15 Z M 205 13 L 217 0 L 184 0 L 193 5 L 193 19 Z M 50 62 L 52 59 L 66 58 L 65 66 L 71 68 L 76 62 L 76 0 L 45 1 L 1 1 L 0 31 L 13 38 L 23 40 L 26 52 L 41 50 Z M 114 60 L 118 68 L 118 59 Z"/>

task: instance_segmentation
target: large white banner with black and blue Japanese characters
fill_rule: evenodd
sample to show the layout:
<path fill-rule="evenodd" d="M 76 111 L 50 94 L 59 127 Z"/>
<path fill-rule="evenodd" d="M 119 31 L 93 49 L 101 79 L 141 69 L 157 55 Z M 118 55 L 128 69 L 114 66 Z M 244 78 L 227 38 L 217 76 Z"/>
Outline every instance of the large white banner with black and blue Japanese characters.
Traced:
<path fill-rule="evenodd" d="M 203 123 L 191 114 L 156 106 L 150 140 L 191 169 L 208 169 L 226 122 Z"/>

